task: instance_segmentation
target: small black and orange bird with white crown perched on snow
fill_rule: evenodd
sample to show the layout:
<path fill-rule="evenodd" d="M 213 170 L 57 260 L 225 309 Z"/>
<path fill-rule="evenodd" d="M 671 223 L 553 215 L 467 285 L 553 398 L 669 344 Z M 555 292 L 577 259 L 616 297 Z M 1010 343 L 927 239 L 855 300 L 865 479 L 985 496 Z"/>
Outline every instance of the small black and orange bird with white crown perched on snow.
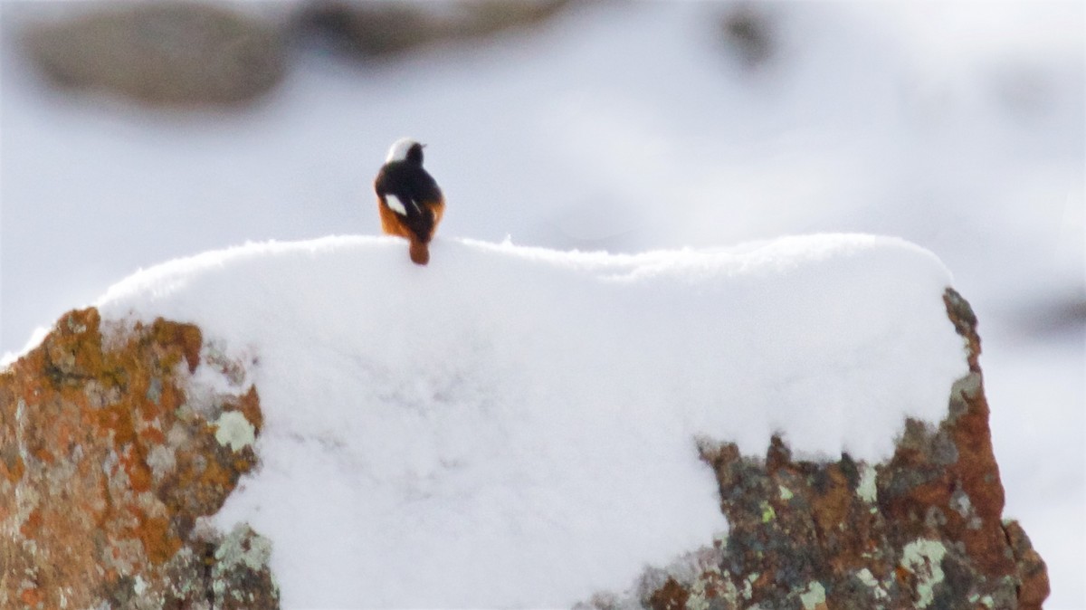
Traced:
<path fill-rule="evenodd" d="M 406 238 L 416 265 L 430 262 L 430 240 L 445 213 L 445 196 L 422 168 L 422 148 L 412 138 L 393 142 L 377 173 L 374 190 L 386 234 Z"/>

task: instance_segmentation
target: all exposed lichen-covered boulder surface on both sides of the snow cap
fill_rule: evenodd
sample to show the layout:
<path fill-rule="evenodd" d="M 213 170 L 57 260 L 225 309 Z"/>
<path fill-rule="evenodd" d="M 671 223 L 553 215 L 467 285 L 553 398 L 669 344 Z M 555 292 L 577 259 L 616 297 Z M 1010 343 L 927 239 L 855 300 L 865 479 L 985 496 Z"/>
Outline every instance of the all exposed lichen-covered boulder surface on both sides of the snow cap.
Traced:
<path fill-rule="evenodd" d="M 582 606 L 1038 610 L 1045 563 L 1001 519 L 976 318 L 956 292 L 945 302 L 970 372 L 938 425 L 907 421 L 882 463 L 699 441 L 728 536 Z M 103 329 L 85 309 L 0 373 L 0 607 L 278 607 L 272 543 L 203 519 L 256 463 L 244 366 L 193 326 Z M 209 371 L 237 392 L 195 391 Z"/>

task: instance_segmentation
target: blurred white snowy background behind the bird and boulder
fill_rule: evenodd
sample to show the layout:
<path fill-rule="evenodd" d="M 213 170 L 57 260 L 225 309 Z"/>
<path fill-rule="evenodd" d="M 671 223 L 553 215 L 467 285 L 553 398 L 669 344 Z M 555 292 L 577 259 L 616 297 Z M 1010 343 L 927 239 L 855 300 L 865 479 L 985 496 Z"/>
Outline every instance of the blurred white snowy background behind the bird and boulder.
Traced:
<path fill-rule="evenodd" d="M 401 27 L 376 34 L 352 13 L 374 4 L 230 7 L 274 33 L 230 78 L 262 93 L 162 104 L 58 67 L 65 43 L 109 54 L 50 30 L 101 5 L 0 2 L 0 354 L 141 267 L 378 232 L 401 136 L 429 144 L 444 236 L 898 236 L 973 304 L 1006 514 L 1049 563 L 1047 607 L 1086 608 L 1086 4 L 381 3 Z"/>

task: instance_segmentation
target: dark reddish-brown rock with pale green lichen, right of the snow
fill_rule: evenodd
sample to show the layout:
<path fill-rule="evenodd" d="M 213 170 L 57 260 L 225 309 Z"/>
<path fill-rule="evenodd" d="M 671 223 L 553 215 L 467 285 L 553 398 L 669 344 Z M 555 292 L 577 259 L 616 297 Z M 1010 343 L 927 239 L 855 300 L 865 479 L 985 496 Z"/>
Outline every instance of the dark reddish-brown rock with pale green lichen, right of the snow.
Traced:
<path fill-rule="evenodd" d="M 944 301 L 970 372 L 938 427 L 906 422 L 894 456 L 875 465 L 797 460 L 776 437 L 763 459 L 703 441 L 727 541 L 649 570 L 632 596 L 601 594 L 585 606 L 1039 610 L 1045 563 L 1022 528 L 1001 519 L 976 318 L 957 292 Z"/>

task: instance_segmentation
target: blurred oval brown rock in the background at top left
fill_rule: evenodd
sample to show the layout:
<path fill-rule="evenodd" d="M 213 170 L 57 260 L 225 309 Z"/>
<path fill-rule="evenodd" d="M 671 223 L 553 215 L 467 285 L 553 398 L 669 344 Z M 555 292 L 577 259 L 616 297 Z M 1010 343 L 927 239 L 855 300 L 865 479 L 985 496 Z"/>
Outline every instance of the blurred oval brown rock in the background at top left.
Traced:
<path fill-rule="evenodd" d="M 30 26 L 24 42 L 55 84 L 152 104 L 237 104 L 267 92 L 285 72 L 275 28 L 216 4 L 102 5 Z"/>

